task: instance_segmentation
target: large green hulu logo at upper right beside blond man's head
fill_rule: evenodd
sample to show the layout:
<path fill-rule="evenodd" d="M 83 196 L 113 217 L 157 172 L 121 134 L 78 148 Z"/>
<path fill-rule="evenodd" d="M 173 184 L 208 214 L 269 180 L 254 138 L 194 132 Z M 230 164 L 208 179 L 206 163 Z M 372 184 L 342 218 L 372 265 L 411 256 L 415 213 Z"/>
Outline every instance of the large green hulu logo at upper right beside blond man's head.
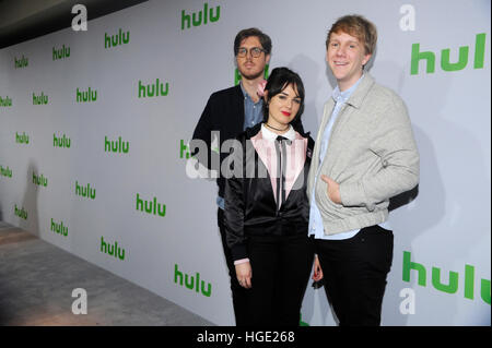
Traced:
<path fill-rule="evenodd" d="M 475 56 L 473 56 L 473 69 L 483 69 L 485 61 L 485 33 L 477 34 L 475 37 Z M 458 61 L 450 62 L 450 49 L 441 50 L 441 69 L 444 71 L 459 71 L 464 70 L 468 64 L 469 47 L 461 46 L 458 50 Z M 427 74 L 435 72 L 435 53 L 432 51 L 420 51 L 420 44 L 412 45 L 412 57 L 410 74 L 417 75 L 419 73 L 419 62 L 424 60 L 426 63 L 425 72 Z"/>

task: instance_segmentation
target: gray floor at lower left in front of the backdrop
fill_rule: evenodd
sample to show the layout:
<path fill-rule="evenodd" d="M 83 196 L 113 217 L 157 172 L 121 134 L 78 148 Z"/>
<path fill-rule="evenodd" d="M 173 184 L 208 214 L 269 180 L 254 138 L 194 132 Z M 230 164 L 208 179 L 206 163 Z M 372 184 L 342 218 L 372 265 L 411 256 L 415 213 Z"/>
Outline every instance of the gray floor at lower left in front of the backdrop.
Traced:
<path fill-rule="evenodd" d="M 86 290 L 87 314 L 72 313 L 74 288 Z M 0 325 L 213 324 L 0 221 Z"/>

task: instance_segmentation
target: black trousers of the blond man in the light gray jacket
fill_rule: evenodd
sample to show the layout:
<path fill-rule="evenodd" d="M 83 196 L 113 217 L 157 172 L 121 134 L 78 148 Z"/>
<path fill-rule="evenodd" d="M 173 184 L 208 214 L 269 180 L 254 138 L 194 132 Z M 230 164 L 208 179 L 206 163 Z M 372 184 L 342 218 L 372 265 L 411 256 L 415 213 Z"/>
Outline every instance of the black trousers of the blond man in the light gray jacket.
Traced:
<path fill-rule="evenodd" d="M 340 326 L 380 324 L 393 240 L 393 231 L 378 225 L 345 240 L 316 240 L 325 289 Z"/>

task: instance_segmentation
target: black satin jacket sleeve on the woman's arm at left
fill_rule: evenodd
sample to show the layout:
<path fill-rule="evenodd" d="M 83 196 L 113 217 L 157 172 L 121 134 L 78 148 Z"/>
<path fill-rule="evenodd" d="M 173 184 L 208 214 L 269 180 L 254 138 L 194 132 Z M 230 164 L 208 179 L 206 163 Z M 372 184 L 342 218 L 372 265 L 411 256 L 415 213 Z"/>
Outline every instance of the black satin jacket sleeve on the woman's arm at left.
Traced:
<path fill-rule="evenodd" d="M 225 209 L 224 209 L 224 226 L 226 232 L 227 247 L 231 249 L 233 260 L 241 260 L 247 257 L 246 237 L 244 233 L 244 171 L 243 151 L 235 148 L 234 153 L 230 155 L 232 159 L 231 176 L 225 180 Z M 236 167 L 234 167 L 236 166 Z"/>

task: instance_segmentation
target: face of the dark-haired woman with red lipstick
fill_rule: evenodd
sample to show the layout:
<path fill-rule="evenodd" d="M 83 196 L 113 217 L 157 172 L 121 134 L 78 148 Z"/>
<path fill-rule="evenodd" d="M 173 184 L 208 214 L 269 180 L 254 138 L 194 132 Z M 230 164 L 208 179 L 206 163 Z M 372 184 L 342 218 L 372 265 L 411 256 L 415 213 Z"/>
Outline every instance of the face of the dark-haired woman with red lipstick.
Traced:
<path fill-rule="evenodd" d="M 285 128 L 297 115 L 301 103 L 296 86 L 289 84 L 270 99 L 268 124 L 281 129 Z"/>

